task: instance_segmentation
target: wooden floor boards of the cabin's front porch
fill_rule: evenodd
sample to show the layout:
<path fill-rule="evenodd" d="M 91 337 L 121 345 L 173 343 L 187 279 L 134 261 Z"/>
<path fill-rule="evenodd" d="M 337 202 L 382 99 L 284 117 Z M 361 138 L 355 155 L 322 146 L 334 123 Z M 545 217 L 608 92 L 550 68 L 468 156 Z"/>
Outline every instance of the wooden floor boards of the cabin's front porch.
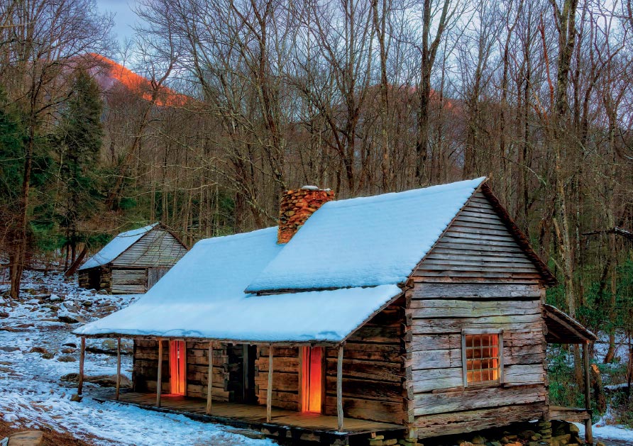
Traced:
<path fill-rule="evenodd" d="M 114 392 L 95 396 L 97 401 L 114 401 Z M 155 406 L 156 394 L 142 394 L 137 392 L 121 392 L 119 403 L 128 403 L 153 411 L 169 411 L 187 414 L 194 414 L 199 420 L 208 420 L 229 425 L 243 427 L 245 424 L 250 428 L 257 429 L 262 426 L 277 425 L 286 428 L 298 428 L 319 433 L 329 433 L 335 435 L 360 435 L 368 433 L 386 432 L 390 430 L 404 430 L 404 426 L 378 423 L 375 421 L 356 420 L 355 418 L 343 419 L 344 433 L 337 433 L 337 418 L 335 416 L 324 416 L 319 413 L 302 413 L 286 411 L 284 409 L 273 408 L 270 423 L 266 422 L 266 406 L 256 404 L 222 403 L 213 402 L 211 416 L 205 413 L 207 401 L 199 398 L 189 398 L 187 396 L 163 394 L 160 396 L 160 408 Z"/>

